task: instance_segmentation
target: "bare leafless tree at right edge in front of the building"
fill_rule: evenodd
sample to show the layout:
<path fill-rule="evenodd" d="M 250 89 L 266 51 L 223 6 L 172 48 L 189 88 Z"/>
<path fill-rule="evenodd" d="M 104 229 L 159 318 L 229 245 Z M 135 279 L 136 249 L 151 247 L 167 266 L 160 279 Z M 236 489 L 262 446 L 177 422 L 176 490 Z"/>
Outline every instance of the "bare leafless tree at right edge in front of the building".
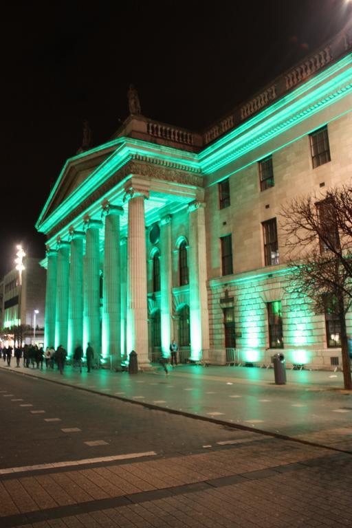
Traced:
<path fill-rule="evenodd" d="M 286 260 L 292 267 L 287 287 L 312 301 L 318 314 L 340 322 L 344 388 L 352 389 L 346 314 L 352 304 L 352 186 L 292 200 L 281 211 Z"/>

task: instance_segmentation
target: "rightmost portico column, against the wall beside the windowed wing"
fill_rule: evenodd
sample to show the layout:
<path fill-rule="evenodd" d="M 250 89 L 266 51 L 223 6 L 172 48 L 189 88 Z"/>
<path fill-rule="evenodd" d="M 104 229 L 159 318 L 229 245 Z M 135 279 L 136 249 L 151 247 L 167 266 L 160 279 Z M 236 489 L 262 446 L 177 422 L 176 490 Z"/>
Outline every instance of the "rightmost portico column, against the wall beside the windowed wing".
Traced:
<path fill-rule="evenodd" d="M 209 314 L 206 289 L 206 223 L 203 203 L 188 206 L 190 219 L 190 359 L 208 360 Z"/>

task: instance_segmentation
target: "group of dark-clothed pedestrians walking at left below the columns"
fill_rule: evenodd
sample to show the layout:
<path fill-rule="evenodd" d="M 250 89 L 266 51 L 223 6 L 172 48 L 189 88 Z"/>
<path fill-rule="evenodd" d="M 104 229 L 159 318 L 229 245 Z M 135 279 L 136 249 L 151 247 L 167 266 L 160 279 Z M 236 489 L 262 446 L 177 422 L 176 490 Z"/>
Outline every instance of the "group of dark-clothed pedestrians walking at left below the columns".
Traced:
<path fill-rule="evenodd" d="M 12 347 L 8 345 L 2 349 L 3 362 L 11 366 L 12 359 Z M 23 358 L 23 366 L 27 369 L 32 365 L 33 369 L 43 370 L 43 362 L 45 360 L 46 369 L 54 369 L 55 364 L 58 367 L 58 370 L 63 374 L 63 369 L 65 367 L 65 362 L 67 358 L 67 351 L 60 344 L 55 350 L 54 347 L 47 347 L 43 350 L 43 347 L 38 347 L 37 344 L 25 344 L 23 348 L 16 347 L 14 349 L 14 357 L 16 358 L 17 367 L 20 366 L 21 358 Z M 91 347 L 91 344 L 88 343 L 87 351 L 85 354 L 87 362 L 87 371 L 90 372 L 93 360 L 94 360 L 94 350 Z M 1 355 L 0 355 L 1 358 Z M 78 366 L 80 372 L 82 372 L 83 366 L 83 348 L 78 345 L 74 351 L 74 366 Z"/>

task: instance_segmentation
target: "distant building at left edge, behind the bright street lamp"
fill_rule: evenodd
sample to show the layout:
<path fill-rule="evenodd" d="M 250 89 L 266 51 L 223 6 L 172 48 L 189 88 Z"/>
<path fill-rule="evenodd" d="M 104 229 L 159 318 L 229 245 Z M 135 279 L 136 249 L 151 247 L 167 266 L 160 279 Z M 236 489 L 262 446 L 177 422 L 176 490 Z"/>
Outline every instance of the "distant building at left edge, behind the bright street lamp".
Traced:
<path fill-rule="evenodd" d="M 43 342 L 46 270 L 39 262 L 25 256 L 24 270 L 14 268 L 0 282 L 2 340 L 22 325 L 23 342 Z"/>

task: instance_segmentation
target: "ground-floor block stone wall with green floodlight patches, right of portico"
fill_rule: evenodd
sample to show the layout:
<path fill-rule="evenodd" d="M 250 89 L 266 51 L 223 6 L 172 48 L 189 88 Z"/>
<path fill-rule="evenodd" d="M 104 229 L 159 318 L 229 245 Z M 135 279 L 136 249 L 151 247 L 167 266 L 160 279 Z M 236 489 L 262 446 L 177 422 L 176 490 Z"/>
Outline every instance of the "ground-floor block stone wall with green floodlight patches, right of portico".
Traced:
<path fill-rule="evenodd" d="M 237 361 L 267 365 L 274 353 L 282 351 L 287 366 L 331 369 L 337 361 L 341 365 L 341 349 L 327 347 L 324 314 L 315 314 L 309 299 L 288 294 L 288 283 L 289 273 L 284 267 L 210 281 L 210 362 L 226 362 L 223 314 L 225 308 L 233 308 Z M 267 303 L 276 300 L 282 307 L 283 349 L 272 349 L 269 342 Z M 351 330 L 348 315 L 348 333 Z"/>

